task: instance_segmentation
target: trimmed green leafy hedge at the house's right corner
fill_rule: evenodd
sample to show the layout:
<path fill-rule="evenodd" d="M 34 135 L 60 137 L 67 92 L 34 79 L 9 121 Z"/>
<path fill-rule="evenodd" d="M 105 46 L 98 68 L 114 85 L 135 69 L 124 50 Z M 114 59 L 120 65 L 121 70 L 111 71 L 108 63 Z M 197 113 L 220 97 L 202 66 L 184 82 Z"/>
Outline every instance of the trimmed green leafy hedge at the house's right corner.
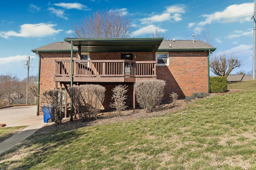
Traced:
<path fill-rule="evenodd" d="M 210 92 L 217 93 L 226 92 L 228 88 L 228 80 L 226 77 L 210 77 Z"/>

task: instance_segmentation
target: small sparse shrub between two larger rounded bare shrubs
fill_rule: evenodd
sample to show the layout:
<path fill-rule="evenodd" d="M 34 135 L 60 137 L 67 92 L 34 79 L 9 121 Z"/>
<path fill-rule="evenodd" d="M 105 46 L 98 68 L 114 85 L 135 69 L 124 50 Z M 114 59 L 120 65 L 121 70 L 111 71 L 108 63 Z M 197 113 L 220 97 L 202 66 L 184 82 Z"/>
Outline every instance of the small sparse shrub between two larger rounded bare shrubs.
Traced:
<path fill-rule="evenodd" d="M 125 105 L 126 102 L 124 102 L 124 100 L 127 99 L 127 87 L 127 85 L 120 84 L 112 89 L 112 100 L 114 100 L 114 102 L 110 103 L 110 107 L 116 108 L 116 115 L 118 116 L 122 114 L 122 111 L 126 109 L 126 107 L 128 107 Z"/>

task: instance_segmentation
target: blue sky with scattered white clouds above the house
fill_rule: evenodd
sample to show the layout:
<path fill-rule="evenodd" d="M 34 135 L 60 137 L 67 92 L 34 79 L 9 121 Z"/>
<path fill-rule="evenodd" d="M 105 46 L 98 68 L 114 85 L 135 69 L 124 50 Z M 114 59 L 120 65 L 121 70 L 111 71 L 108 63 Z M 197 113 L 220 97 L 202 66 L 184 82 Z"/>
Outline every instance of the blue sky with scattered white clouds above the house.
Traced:
<path fill-rule="evenodd" d="M 234 54 L 252 70 L 253 0 L 8 0 L 0 6 L 0 74 L 38 74 L 38 56 L 32 49 L 72 37 L 74 23 L 96 10 L 118 11 L 130 19 L 134 38 L 151 37 L 156 28 L 165 39 L 205 41 L 208 33 L 217 50 L 210 58 Z M 214 75 L 213 73 L 210 73 Z"/>

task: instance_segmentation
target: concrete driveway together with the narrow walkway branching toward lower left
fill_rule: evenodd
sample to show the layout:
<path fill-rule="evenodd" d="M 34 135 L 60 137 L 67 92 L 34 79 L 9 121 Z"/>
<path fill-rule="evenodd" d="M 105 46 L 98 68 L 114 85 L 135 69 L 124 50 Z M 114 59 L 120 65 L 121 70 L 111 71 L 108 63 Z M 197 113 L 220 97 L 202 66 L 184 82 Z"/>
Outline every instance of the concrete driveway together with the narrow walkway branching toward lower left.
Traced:
<path fill-rule="evenodd" d="M 24 139 L 42 128 L 44 123 L 43 116 L 36 116 L 36 106 L 15 106 L 0 109 L 0 123 L 6 124 L 5 127 L 28 126 L 12 137 L 0 143 L 0 154 L 15 147 Z M 2 128 L 5 128 L 2 127 Z"/>

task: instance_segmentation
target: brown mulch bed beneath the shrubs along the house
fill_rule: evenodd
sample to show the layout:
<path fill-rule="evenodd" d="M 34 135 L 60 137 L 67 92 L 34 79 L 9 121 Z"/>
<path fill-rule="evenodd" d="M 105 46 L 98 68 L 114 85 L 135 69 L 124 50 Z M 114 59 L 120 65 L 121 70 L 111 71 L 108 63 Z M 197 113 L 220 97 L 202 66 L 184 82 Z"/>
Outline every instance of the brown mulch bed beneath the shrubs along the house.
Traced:
<path fill-rule="evenodd" d="M 240 92 L 240 91 L 242 90 L 230 89 L 230 90 L 227 90 L 225 93 L 212 93 L 208 97 L 223 95 L 223 94 L 230 94 L 230 93 Z M 196 99 L 196 100 L 200 100 L 200 99 Z M 150 114 L 146 114 L 145 111 L 140 108 L 135 110 L 131 108 L 127 109 L 126 111 L 123 111 L 122 115 L 120 116 L 116 116 L 115 111 L 109 111 L 109 112 L 100 113 L 98 115 L 97 120 L 90 121 L 90 122 L 82 122 L 81 119 L 74 119 L 73 121 L 69 121 L 70 118 L 65 118 L 62 120 L 62 125 L 57 127 L 54 123 L 48 123 L 43 128 L 39 129 L 36 133 L 44 133 L 44 132 L 60 131 L 60 130 L 66 131 L 66 130 L 77 129 L 84 126 L 103 125 L 108 123 L 116 123 L 116 122 L 122 122 L 122 121 L 144 119 L 144 118 L 154 117 L 159 115 L 166 115 L 168 113 L 174 113 L 174 112 L 186 109 L 190 103 L 191 102 L 185 102 L 184 100 L 178 100 L 175 107 L 173 107 L 172 104 L 163 104 L 161 106 L 158 106 L 156 111 L 153 111 Z"/>

